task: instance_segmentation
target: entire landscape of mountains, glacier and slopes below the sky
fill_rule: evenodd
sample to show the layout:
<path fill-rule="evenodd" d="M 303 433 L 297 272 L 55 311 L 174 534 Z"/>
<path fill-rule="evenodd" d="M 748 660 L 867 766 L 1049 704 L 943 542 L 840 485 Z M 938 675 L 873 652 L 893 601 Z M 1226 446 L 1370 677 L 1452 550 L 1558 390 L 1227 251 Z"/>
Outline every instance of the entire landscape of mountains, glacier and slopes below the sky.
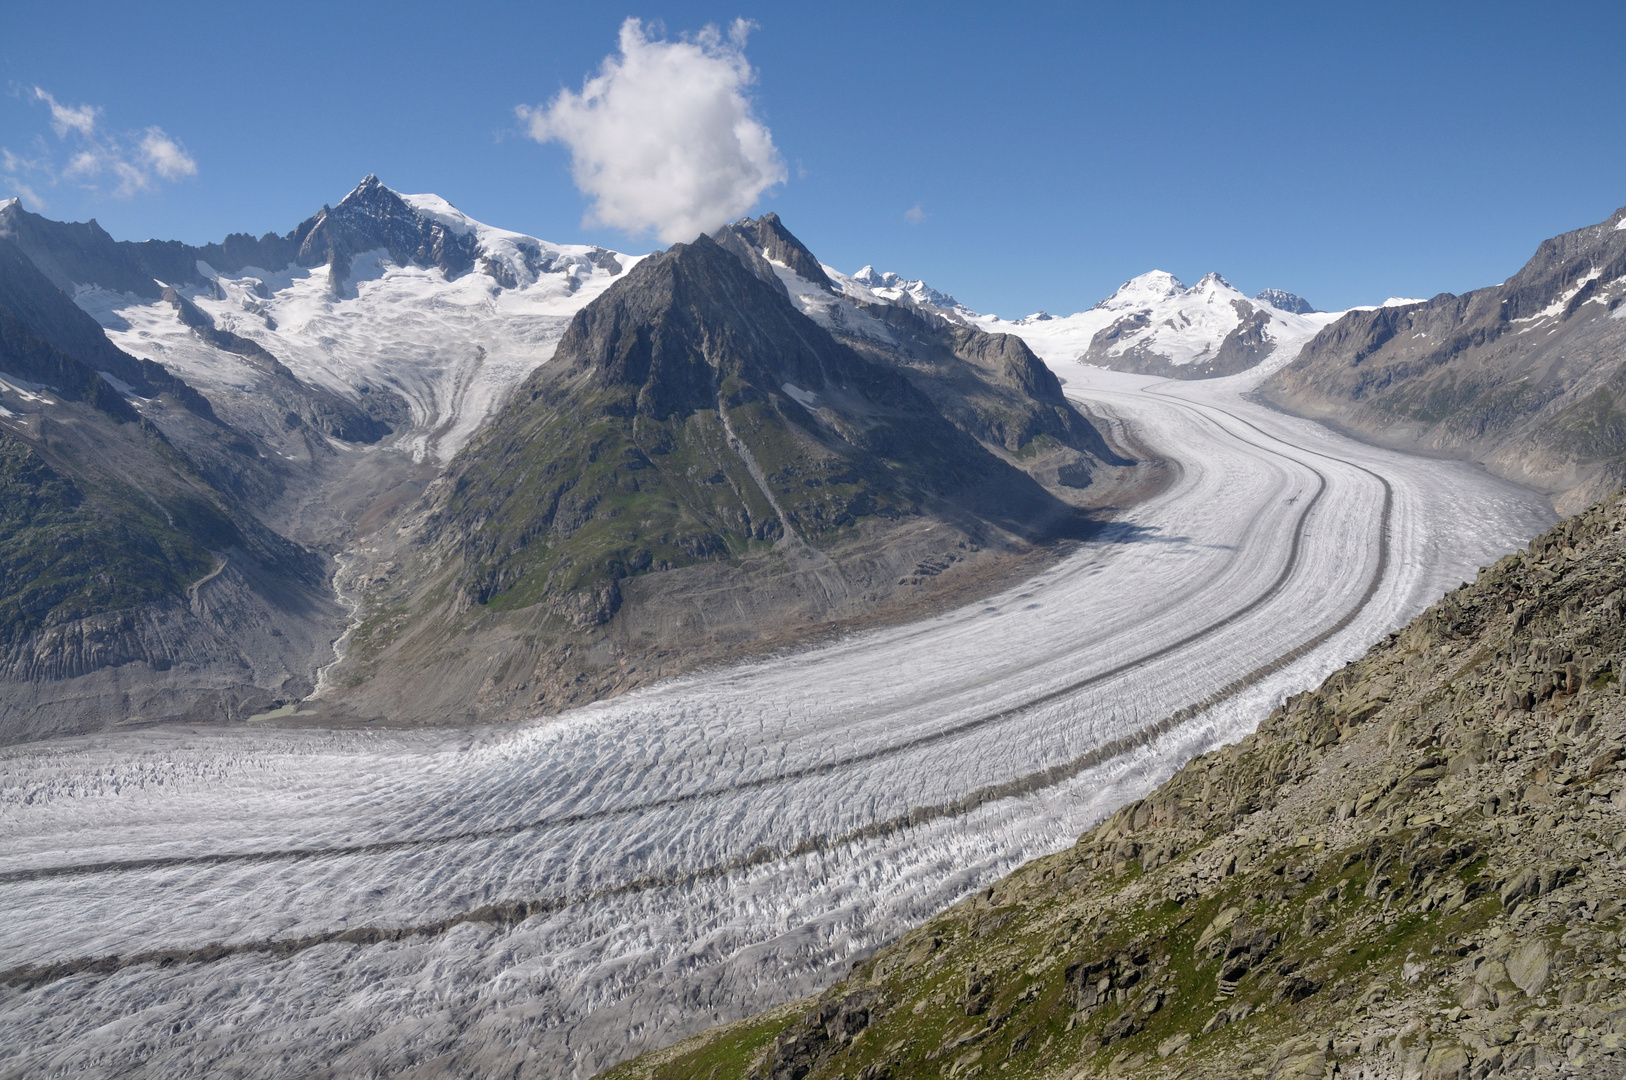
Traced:
<path fill-rule="evenodd" d="M 1619 216 L 1002 320 L 0 203 L 0 1075 L 1613 1069 L 1621 504 L 1507 551 L 1618 483 Z"/>

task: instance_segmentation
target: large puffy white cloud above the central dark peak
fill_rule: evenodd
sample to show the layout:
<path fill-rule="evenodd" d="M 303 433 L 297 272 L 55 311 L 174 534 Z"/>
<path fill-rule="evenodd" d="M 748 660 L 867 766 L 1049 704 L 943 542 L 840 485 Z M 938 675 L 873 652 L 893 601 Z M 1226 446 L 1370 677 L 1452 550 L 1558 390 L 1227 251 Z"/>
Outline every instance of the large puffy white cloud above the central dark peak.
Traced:
<path fill-rule="evenodd" d="M 605 57 L 582 91 L 515 114 L 540 143 L 564 143 L 576 185 L 592 200 L 587 224 L 688 241 L 745 215 L 785 181 L 785 163 L 746 91 L 751 24 L 727 37 L 707 26 L 681 41 L 621 24 L 620 54 Z"/>

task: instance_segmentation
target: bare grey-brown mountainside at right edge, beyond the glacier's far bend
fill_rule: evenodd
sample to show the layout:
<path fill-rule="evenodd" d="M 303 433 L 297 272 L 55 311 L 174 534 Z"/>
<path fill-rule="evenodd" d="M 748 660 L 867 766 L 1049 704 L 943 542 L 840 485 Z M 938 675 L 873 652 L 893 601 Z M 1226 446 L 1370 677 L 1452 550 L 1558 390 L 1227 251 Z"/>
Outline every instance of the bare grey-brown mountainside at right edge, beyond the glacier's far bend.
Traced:
<path fill-rule="evenodd" d="M 1351 311 L 1262 387 L 1402 449 L 1483 462 L 1563 512 L 1626 481 L 1626 208 L 1507 281 Z"/>

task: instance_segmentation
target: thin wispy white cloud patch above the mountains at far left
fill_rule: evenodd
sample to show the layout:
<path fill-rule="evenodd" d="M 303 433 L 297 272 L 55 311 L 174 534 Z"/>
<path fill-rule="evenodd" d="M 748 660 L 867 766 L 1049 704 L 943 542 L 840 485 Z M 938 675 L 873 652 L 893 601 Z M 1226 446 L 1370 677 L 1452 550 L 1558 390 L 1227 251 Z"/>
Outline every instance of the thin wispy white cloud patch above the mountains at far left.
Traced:
<path fill-rule="evenodd" d="M 197 176 L 197 161 L 161 127 L 140 132 L 111 132 L 102 124 L 101 106 L 63 104 L 33 86 L 26 98 L 50 114 L 57 143 L 36 137 L 24 153 L 0 146 L 0 184 L 23 198 L 31 210 L 44 210 L 39 189 L 76 184 L 114 198 L 130 198 L 153 190 L 159 181 Z"/>

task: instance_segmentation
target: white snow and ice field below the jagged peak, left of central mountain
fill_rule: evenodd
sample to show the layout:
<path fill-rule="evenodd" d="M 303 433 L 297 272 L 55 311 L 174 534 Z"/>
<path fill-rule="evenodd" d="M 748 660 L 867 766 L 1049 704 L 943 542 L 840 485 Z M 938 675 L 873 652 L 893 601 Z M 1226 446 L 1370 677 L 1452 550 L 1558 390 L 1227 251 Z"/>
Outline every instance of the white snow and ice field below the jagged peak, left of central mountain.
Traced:
<path fill-rule="evenodd" d="M 473 234 L 478 268 L 447 277 L 380 247 L 356 257 L 340 288 L 325 265 L 218 273 L 200 263 L 211 286 L 180 293 L 216 329 L 259 343 L 304 382 L 351 400 L 364 387 L 395 390 L 411 408 L 395 449 L 446 462 L 553 356 L 571 316 L 639 257 L 496 229 L 437 195 L 400 198 L 454 236 Z M 166 301 L 102 288 L 81 288 L 75 301 L 119 348 L 163 363 L 213 400 L 254 395 L 270 377 L 202 340 Z"/>

